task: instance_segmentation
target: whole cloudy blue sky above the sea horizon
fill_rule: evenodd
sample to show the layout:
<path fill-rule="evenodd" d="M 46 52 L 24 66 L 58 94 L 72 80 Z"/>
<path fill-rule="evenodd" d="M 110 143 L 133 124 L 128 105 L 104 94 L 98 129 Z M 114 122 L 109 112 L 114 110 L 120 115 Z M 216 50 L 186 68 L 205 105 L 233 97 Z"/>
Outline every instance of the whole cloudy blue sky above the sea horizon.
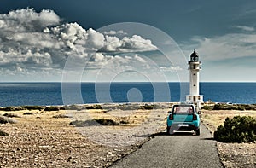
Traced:
<path fill-rule="evenodd" d="M 1 0 L 0 82 L 256 82 L 253 0 Z"/>

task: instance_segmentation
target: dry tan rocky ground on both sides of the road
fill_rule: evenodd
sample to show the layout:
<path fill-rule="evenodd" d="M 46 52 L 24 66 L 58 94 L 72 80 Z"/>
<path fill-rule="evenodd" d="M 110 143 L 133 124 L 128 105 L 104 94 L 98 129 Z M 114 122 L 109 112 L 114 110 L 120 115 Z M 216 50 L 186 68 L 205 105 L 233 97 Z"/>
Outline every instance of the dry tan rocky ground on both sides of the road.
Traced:
<path fill-rule="evenodd" d="M 0 111 L 2 115 L 15 114 L 9 119 L 16 121 L 0 124 L 0 130 L 9 133 L 0 138 L 0 167 L 108 167 L 140 148 L 151 134 L 164 130 L 170 106 L 162 104 L 157 109 L 145 109 L 108 105 L 91 110 Z M 213 131 L 226 116 L 239 113 L 246 114 L 204 110 L 201 117 L 204 125 Z M 102 126 L 90 122 L 99 118 L 112 119 L 120 125 Z M 79 120 L 89 122 L 84 127 L 70 125 Z M 218 142 L 217 146 L 225 167 L 256 166 L 255 143 Z"/>

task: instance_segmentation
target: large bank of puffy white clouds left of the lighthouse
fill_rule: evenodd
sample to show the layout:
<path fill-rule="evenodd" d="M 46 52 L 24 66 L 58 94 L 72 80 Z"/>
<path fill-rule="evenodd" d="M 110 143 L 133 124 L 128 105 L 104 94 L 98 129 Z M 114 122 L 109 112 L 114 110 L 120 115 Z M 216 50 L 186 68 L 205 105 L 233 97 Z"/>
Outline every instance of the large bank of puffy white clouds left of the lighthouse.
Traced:
<path fill-rule="evenodd" d="M 143 62 L 140 56 L 110 56 L 103 53 L 140 52 L 157 49 L 143 37 L 119 38 L 127 35 L 122 30 L 97 32 L 84 30 L 78 23 L 61 24 L 61 18 L 52 10 L 36 12 L 34 9 L 18 9 L 0 14 L 0 70 L 3 74 L 61 74 L 71 56 L 84 64 L 89 53 L 94 68 L 101 68 L 104 61 L 113 67 L 124 63 Z M 101 53 L 103 52 L 103 53 Z M 128 61 L 128 62 L 127 62 Z M 92 67 L 92 66 L 91 66 Z"/>

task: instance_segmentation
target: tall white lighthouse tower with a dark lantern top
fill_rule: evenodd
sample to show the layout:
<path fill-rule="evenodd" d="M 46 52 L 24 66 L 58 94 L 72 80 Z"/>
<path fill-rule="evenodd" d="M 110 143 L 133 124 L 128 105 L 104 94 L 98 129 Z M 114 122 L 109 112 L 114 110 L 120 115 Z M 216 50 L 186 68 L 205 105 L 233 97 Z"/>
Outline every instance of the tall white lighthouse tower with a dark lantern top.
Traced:
<path fill-rule="evenodd" d="M 199 71 L 201 70 L 201 61 L 199 55 L 194 52 L 190 55 L 189 64 L 189 95 L 186 96 L 186 101 L 194 104 L 203 102 L 203 96 L 199 95 Z"/>

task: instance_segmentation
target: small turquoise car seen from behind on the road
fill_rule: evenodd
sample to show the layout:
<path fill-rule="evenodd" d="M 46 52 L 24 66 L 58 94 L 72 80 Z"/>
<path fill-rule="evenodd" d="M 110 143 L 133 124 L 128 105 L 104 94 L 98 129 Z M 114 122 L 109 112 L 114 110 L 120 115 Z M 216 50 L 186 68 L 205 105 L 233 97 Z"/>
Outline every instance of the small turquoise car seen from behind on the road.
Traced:
<path fill-rule="evenodd" d="M 196 112 L 193 104 L 173 105 L 168 112 L 166 134 L 172 135 L 177 131 L 195 131 L 200 135 L 200 113 Z"/>

